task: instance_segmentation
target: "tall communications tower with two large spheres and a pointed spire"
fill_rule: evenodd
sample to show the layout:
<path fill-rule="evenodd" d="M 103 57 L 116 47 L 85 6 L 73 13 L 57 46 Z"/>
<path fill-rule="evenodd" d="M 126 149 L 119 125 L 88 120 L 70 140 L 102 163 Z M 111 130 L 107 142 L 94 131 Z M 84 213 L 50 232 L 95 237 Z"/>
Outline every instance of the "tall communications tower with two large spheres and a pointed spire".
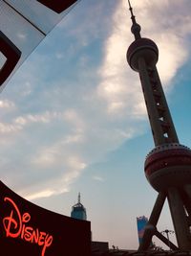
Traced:
<path fill-rule="evenodd" d="M 141 28 L 130 0 L 128 2 L 135 40 L 127 50 L 127 61 L 139 74 L 155 142 L 155 149 L 146 156 L 144 172 L 149 183 L 159 192 L 138 250 L 147 250 L 154 235 L 174 250 L 191 250 L 191 150 L 180 145 L 165 99 L 156 67 L 158 46 L 153 40 L 141 37 Z M 165 198 L 168 199 L 178 247 L 169 243 L 157 229 Z"/>

